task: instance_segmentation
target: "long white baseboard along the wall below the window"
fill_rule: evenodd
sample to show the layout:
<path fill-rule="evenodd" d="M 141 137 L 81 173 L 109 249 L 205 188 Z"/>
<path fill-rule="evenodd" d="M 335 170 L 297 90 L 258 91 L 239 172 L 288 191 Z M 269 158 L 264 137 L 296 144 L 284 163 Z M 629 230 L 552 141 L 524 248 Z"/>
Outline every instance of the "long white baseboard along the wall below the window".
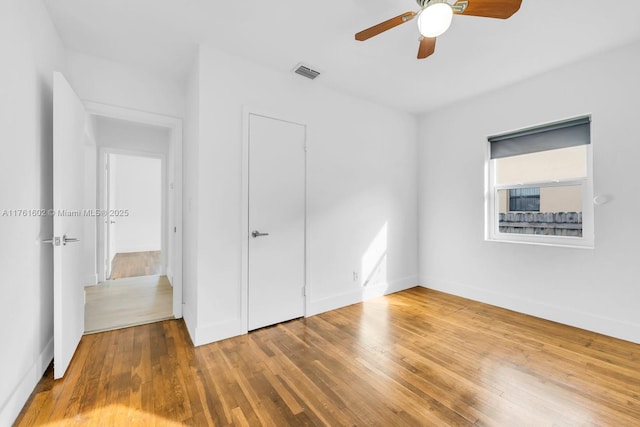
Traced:
<path fill-rule="evenodd" d="M 637 323 L 599 316 L 576 310 L 572 307 L 561 307 L 542 303 L 517 295 L 487 291 L 461 283 L 453 283 L 433 278 L 421 278 L 420 283 L 420 286 L 428 289 L 446 292 L 485 304 L 495 305 L 519 313 L 640 344 L 640 324 Z"/>

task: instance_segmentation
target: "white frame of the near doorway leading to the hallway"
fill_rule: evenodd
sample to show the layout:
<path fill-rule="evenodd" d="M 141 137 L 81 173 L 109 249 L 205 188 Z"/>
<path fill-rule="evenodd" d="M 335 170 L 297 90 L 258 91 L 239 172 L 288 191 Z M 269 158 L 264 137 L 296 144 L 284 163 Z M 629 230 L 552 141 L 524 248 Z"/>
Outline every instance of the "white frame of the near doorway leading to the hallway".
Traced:
<path fill-rule="evenodd" d="M 169 130 L 169 154 L 166 159 L 167 277 L 173 286 L 173 316 L 182 317 L 182 119 L 147 111 L 84 101 L 87 113 L 98 117 L 163 127 Z M 101 163 L 99 164 L 101 165 Z M 102 258 L 99 258 L 102 259 Z"/>

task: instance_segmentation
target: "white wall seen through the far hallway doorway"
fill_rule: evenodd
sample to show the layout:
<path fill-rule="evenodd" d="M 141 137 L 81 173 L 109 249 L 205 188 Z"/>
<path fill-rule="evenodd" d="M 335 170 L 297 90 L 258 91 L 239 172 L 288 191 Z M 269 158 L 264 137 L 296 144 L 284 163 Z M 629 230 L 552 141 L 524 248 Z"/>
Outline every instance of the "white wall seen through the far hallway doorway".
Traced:
<path fill-rule="evenodd" d="M 162 249 L 162 159 L 111 154 L 115 253 Z"/>

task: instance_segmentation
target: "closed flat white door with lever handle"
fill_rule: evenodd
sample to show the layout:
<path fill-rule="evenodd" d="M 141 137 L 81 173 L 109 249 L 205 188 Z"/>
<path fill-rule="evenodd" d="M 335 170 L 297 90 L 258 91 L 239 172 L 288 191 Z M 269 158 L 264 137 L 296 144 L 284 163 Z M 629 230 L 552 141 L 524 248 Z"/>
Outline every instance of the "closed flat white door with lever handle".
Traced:
<path fill-rule="evenodd" d="M 249 115 L 248 329 L 304 315 L 305 127 Z"/>

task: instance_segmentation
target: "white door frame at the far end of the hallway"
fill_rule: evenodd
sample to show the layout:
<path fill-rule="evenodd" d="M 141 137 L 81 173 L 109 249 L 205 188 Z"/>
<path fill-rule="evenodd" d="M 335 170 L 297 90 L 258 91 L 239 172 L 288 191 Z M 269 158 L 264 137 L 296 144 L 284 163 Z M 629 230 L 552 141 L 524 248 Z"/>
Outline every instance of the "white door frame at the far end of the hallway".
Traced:
<path fill-rule="evenodd" d="M 161 246 L 161 251 L 162 251 L 162 270 L 161 273 L 162 275 L 166 275 L 167 274 L 167 268 L 169 266 L 169 259 L 168 259 L 168 254 L 169 252 L 167 251 L 168 246 L 169 246 L 169 239 L 168 236 L 170 234 L 169 232 L 169 187 L 168 187 L 168 180 L 167 180 L 167 156 L 163 153 L 159 153 L 159 152 L 152 152 L 152 151 L 142 151 L 142 150 L 129 150 L 126 148 L 114 148 L 114 147 L 98 147 L 98 174 L 100 175 L 100 177 L 98 177 L 97 181 L 98 181 L 98 198 L 99 198 L 99 202 L 98 202 L 98 207 L 105 211 L 107 209 L 109 209 L 109 204 L 108 204 L 108 198 L 110 195 L 110 189 L 109 189 L 109 179 L 110 179 L 110 173 L 111 170 L 108 169 L 106 171 L 106 173 L 104 173 L 105 168 L 107 167 L 108 161 L 109 161 L 109 156 L 115 154 L 115 155 L 124 155 L 124 156 L 131 156 L 131 157 L 142 157 L 145 159 L 159 159 L 160 160 L 160 170 L 161 170 L 161 175 L 160 175 L 160 180 L 161 180 L 161 219 L 160 219 L 160 246 Z M 101 217 L 102 218 L 102 217 Z M 109 218 L 109 216 L 107 215 L 106 217 L 107 219 Z M 108 242 L 109 240 L 109 228 L 110 225 L 107 223 L 107 221 L 100 221 L 98 223 L 98 240 L 97 240 L 97 244 L 98 244 L 98 259 L 101 261 L 99 262 L 99 269 L 98 269 L 98 277 L 100 278 L 100 281 L 104 281 L 107 280 L 107 272 L 110 272 L 110 266 L 107 265 L 107 260 L 108 260 L 108 255 L 105 251 L 105 248 L 107 246 L 107 244 L 111 243 Z"/>

